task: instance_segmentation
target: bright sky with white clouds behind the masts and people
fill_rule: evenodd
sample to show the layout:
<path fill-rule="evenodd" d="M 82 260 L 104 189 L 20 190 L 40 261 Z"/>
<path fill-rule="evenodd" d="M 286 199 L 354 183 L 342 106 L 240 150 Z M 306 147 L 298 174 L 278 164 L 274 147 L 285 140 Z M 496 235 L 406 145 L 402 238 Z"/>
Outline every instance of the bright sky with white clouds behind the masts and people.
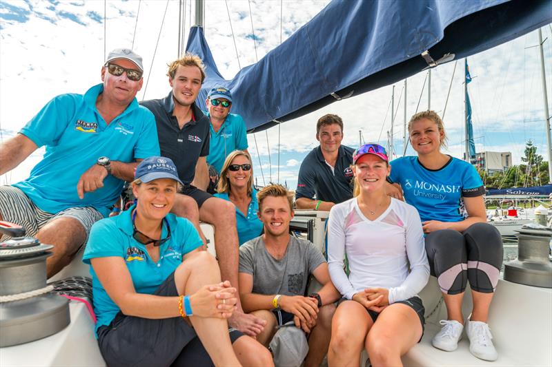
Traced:
<path fill-rule="evenodd" d="M 239 70 L 256 61 L 249 5 L 253 14 L 257 58 L 280 43 L 311 19 L 328 1 L 206 1 L 206 39 L 219 71 L 232 78 Z M 103 23 L 104 5 L 107 21 Z M 100 69 L 107 52 L 113 48 L 132 47 L 144 58 L 146 82 L 137 98 L 161 98 L 168 93 L 166 63 L 178 54 L 178 1 L 23 1 L 0 0 L 0 139 L 17 132 L 39 109 L 57 94 L 83 93 L 100 82 Z M 138 6 L 140 7 L 139 13 Z M 186 0 L 186 41 L 190 24 L 190 0 Z M 137 14 L 139 14 L 137 19 Z M 193 18 L 193 14 L 192 14 Z M 162 27 L 161 27 L 162 23 Z M 136 34 L 135 34 L 136 27 Z M 159 30 L 161 34 L 159 35 Z M 104 32 L 106 42 L 104 43 Z M 546 63 L 549 108 L 552 110 L 551 26 L 542 28 Z M 155 53 L 157 39 L 157 52 Z M 235 39 L 239 63 L 236 56 Z M 540 78 L 537 32 L 471 56 L 469 65 L 473 82 L 469 84 L 473 107 L 473 129 L 477 151 L 511 151 L 518 164 L 526 140 L 533 140 L 538 153 L 546 156 L 544 107 Z M 185 43 L 184 43 L 185 44 Z M 154 57 L 155 54 L 155 57 Z M 431 108 L 442 114 L 451 83 L 453 63 L 432 71 Z M 464 149 L 463 60 L 458 61 L 444 121 L 449 134 L 448 153 L 461 157 Z M 427 92 L 422 93 L 426 72 L 408 78 L 407 117 L 428 106 Z M 147 84 L 147 88 L 146 88 Z M 404 95 L 402 83 L 395 85 L 395 150 L 402 155 Z M 266 182 L 269 172 L 277 180 L 277 146 L 280 145 L 280 182 L 295 188 L 297 171 L 304 155 L 317 145 L 315 124 L 326 113 L 342 116 L 344 143 L 357 147 L 359 131 L 364 141 L 387 141 L 391 129 L 392 86 L 333 103 L 317 112 L 282 124 L 268 133 L 248 136 L 255 174 L 263 183 L 259 159 Z M 384 125 L 385 121 L 385 125 Z M 381 133 L 380 133 L 381 132 Z M 268 136 L 268 145 L 267 145 Z M 255 145 L 255 138 L 257 146 Z M 270 147 L 270 165 L 268 157 Z M 411 150 L 408 150 L 407 153 Z M 0 177 L 0 184 L 17 182 L 28 176 L 41 158 L 37 151 L 20 167 Z M 260 157 L 259 157 L 260 154 Z"/>

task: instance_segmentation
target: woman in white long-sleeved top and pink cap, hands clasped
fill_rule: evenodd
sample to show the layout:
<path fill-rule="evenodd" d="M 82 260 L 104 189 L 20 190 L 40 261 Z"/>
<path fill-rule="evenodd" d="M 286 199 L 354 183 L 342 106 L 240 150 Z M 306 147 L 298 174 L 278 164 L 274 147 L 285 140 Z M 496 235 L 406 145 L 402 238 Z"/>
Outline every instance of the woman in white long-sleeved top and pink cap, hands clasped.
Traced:
<path fill-rule="evenodd" d="M 417 293 L 429 265 L 416 209 L 385 189 L 391 170 L 384 147 L 353 153 L 353 198 L 328 219 L 328 267 L 343 298 L 332 320 L 328 366 L 402 366 L 401 355 L 422 339 L 424 306 Z M 344 256 L 350 273 L 344 271 Z"/>

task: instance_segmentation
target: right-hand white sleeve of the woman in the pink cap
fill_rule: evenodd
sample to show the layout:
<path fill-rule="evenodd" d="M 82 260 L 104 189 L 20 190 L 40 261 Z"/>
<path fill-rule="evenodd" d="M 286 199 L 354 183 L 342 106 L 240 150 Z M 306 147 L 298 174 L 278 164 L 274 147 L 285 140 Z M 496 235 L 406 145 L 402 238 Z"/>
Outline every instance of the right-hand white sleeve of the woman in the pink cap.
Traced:
<path fill-rule="evenodd" d="M 389 289 L 389 304 L 408 300 L 424 289 L 429 279 L 424 231 L 420 214 L 411 205 L 404 205 L 406 219 L 406 255 L 411 272 L 400 286 Z"/>

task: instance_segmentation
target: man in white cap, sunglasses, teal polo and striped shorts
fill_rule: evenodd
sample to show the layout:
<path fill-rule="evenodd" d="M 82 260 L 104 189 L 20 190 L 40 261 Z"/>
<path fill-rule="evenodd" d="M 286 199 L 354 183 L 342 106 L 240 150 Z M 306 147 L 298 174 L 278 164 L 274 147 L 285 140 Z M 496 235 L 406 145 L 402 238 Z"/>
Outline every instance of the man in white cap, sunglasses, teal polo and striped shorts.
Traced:
<path fill-rule="evenodd" d="M 103 83 L 53 98 L 0 145 L 0 175 L 46 146 L 29 178 L 0 187 L 0 220 L 54 245 L 48 277 L 69 264 L 92 224 L 108 216 L 136 161 L 159 155 L 155 120 L 135 98 L 143 73 L 139 55 L 113 50 L 101 67 Z"/>

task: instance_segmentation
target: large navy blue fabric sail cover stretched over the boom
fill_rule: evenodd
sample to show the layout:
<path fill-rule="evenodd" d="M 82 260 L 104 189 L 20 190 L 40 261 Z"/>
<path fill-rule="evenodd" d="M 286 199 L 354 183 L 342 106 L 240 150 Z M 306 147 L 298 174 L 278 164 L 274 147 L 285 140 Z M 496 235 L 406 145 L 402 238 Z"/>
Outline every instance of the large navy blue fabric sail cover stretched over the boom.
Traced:
<path fill-rule="evenodd" d="M 417 74 L 445 54 L 460 59 L 552 22 L 552 0 L 334 0 L 282 45 L 231 80 L 217 70 L 201 28 L 186 50 L 201 56 L 207 78 L 197 101 L 224 85 L 248 132 Z"/>

